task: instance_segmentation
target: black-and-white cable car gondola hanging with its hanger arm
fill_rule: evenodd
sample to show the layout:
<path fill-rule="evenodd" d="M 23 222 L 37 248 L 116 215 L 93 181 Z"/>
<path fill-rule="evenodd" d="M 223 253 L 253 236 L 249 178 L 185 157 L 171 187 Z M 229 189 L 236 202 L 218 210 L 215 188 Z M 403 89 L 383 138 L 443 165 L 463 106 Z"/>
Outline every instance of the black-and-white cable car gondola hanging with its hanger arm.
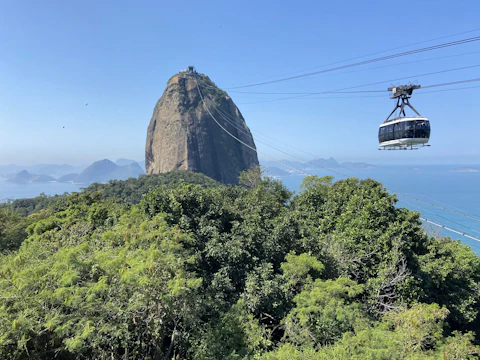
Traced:
<path fill-rule="evenodd" d="M 414 89 L 420 85 L 402 85 L 391 87 L 392 99 L 397 99 L 397 105 L 380 125 L 378 130 L 379 150 L 416 150 L 427 145 L 430 139 L 430 122 L 421 116 L 409 102 Z M 411 108 L 418 116 L 406 116 L 405 106 Z M 395 111 L 400 108 L 399 116 L 390 119 Z"/>

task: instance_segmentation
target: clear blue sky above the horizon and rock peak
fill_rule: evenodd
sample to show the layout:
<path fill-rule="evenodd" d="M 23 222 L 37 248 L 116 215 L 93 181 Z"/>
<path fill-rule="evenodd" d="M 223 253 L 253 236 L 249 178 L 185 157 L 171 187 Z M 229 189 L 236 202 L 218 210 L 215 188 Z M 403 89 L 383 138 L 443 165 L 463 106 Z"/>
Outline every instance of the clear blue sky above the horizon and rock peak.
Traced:
<path fill-rule="evenodd" d="M 479 28 L 479 14 L 478 0 L 3 0 L 0 164 L 142 160 L 155 103 L 168 78 L 188 65 L 229 88 Z M 472 36 L 480 31 L 382 55 Z M 422 85 L 478 78 L 480 67 L 416 75 L 480 64 L 479 52 L 475 42 L 352 69 L 370 70 L 243 90 L 325 91 L 386 81 L 359 89 L 382 90 L 397 78 Z M 417 60 L 425 61 L 375 68 Z M 480 83 L 463 86 L 474 85 Z M 378 126 L 394 106 L 387 95 L 273 102 L 259 101 L 282 96 L 230 95 L 254 134 L 319 157 L 480 163 L 480 88 L 418 92 L 412 103 L 431 120 L 432 146 L 410 152 L 377 150 Z"/>

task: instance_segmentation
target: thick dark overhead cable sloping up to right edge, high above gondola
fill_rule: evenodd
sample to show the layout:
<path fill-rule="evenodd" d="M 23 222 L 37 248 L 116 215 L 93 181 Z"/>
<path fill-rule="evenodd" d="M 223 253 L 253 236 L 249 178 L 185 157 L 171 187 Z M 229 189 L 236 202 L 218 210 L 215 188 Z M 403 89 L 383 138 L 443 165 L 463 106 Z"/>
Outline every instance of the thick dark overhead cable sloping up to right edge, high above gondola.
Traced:
<path fill-rule="evenodd" d="M 356 62 L 356 63 L 353 63 L 353 64 L 337 66 L 337 67 L 330 68 L 330 69 L 324 69 L 324 70 L 314 71 L 314 72 L 311 72 L 311 73 L 306 73 L 306 74 L 301 74 L 301 75 L 296 75 L 296 76 L 290 76 L 290 77 L 286 77 L 286 78 L 283 78 L 283 79 L 264 81 L 264 82 L 259 82 L 259 83 L 251 84 L 251 85 L 235 86 L 235 87 L 230 87 L 230 88 L 226 88 L 226 89 L 227 90 L 228 89 L 241 89 L 241 88 L 247 88 L 247 87 L 253 87 L 253 86 L 273 84 L 273 83 L 283 82 L 283 81 L 288 81 L 288 80 L 294 80 L 294 79 L 304 78 L 304 77 L 308 77 L 308 76 L 323 74 L 323 73 L 327 73 L 327 72 L 332 72 L 332 71 L 337 71 L 337 70 L 342 70 L 342 69 L 348 69 L 348 68 L 351 68 L 351 67 L 376 63 L 376 62 L 379 62 L 379 61 L 395 59 L 395 58 L 398 58 L 398 57 L 403 57 L 403 56 L 408 56 L 408 55 L 413 55 L 413 54 L 419 54 L 419 53 L 423 53 L 423 52 L 426 52 L 426 51 L 433 51 L 433 50 L 443 49 L 443 48 L 447 48 L 447 47 L 451 47 L 451 46 L 468 44 L 468 43 L 472 43 L 472 42 L 479 41 L 479 40 L 480 40 L 480 36 L 476 36 L 476 37 L 472 37 L 472 38 L 452 41 L 452 42 L 449 42 L 449 43 L 438 44 L 438 45 L 433 45 L 433 46 L 429 46 L 429 47 L 425 47 L 425 48 L 405 51 L 403 53 L 387 55 L 387 56 L 383 56 L 383 57 L 379 57 L 379 58 L 375 58 L 375 59 L 360 61 L 360 62 Z"/>

